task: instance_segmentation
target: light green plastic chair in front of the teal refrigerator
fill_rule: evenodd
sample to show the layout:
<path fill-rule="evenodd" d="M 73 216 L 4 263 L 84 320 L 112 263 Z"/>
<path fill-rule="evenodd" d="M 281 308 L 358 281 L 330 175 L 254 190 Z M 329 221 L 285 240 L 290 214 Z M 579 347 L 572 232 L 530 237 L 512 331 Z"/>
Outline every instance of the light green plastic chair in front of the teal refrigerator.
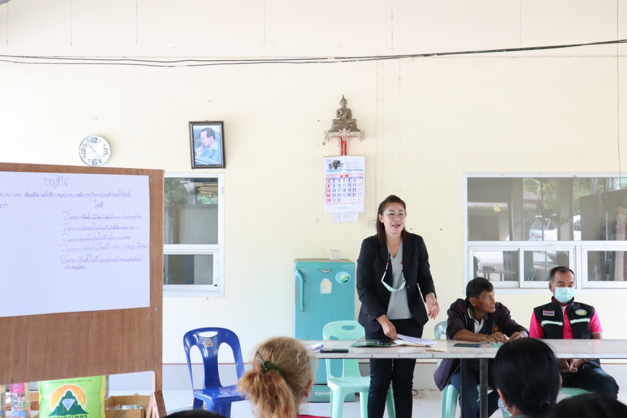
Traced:
<path fill-rule="evenodd" d="M 359 340 L 366 335 L 364 327 L 357 321 L 335 321 L 329 322 L 322 330 L 324 340 L 332 337 L 338 340 Z M 368 390 L 370 389 L 370 377 L 362 377 L 359 373 L 359 361 L 356 358 L 349 358 L 343 361 L 342 377 L 331 375 L 330 358 L 326 358 L 327 363 L 327 385 L 331 389 L 331 418 L 342 418 L 344 412 L 344 398 L 346 395 L 359 393 L 359 406 L 361 407 L 361 418 L 368 417 Z M 387 391 L 387 416 L 396 418 L 394 410 L 394 398 L 392 387 Z"/>

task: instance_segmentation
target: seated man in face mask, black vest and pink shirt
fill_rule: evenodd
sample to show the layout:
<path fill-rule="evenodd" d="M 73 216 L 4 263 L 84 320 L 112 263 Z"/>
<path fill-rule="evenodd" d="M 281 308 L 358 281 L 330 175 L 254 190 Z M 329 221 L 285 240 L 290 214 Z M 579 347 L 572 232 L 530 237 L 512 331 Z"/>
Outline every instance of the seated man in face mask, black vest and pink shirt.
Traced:
<path fill-rule="evenodd" d="M 552 340 L 603 339 L 601 321 L 593 306 L 575 301 L 575 276 L 567 267 L 556 267 L 549 276 L 551 303 L 538 306 L 531 316 L 529 337 Z M 596 358 L 561 358 L 562 386 L 618 398 L 618 385 Z"/>

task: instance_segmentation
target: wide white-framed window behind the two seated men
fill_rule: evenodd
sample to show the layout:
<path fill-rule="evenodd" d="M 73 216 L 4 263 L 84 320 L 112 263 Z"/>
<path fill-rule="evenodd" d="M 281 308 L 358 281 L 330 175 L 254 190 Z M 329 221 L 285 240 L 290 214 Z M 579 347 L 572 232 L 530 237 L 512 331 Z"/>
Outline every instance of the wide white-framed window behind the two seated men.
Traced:
<path fill-rule="evenodd" d="M 627 288 L 627 178 L 465 174 L 464 283 L 547 287 L 566 266 L 579 288 Z"/>

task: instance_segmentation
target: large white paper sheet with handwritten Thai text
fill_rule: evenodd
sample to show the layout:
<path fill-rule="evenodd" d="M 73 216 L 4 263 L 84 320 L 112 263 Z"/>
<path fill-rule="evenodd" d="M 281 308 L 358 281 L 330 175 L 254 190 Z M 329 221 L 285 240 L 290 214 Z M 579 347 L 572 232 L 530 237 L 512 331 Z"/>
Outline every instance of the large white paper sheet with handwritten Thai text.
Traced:
<path fill-rule="evenodd" d="M 150 306 L 147 175 L 0 172 L 0 317 Z"/>

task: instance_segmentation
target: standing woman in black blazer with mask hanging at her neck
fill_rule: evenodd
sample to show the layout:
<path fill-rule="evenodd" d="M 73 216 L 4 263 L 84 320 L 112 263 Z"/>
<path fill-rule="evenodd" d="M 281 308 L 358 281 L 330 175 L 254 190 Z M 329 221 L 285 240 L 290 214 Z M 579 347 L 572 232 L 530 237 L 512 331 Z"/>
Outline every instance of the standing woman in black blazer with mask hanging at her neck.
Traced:
<path fill-rule="evenodd" d="M 387 196 L 379 205 L 377 234 L 364 239 L 357 259 L 359 323 L 367 340 L 422 337 L 440 306 L 423 238 L 405 231 L 405 202 Z M 426 302 L 426 308 L 423 300 Z M 410 418 L 414 367 L 411 358 L 371 358 L 368 418 L 382 418 L 390 382 L 398 418 Z"/>

